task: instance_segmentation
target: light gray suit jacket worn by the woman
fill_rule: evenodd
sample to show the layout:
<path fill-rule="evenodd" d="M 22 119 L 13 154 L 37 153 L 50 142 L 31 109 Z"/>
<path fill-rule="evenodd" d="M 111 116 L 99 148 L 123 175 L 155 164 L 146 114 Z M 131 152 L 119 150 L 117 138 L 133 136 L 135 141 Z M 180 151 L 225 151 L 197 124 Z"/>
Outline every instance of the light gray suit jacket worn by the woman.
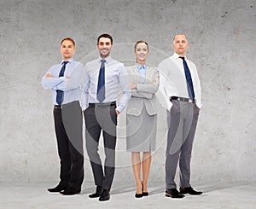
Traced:
<path fill-rule="evenodd" d="M 143 111 L 143 105 L 149 115 L 156 114 L 156 98 L 154 94 L 158 90 L 160 82 L 160 73 L 153 67 L 146 70 L 145 84 L 142 84 L 142 78 L 138 73 L 136 65 L 126 67 L 129 73 L 130 82 L 137 84 L 137 89 L 131 90 L 131 100 L 127 105 L 127 114 L 139 116 Z"/>

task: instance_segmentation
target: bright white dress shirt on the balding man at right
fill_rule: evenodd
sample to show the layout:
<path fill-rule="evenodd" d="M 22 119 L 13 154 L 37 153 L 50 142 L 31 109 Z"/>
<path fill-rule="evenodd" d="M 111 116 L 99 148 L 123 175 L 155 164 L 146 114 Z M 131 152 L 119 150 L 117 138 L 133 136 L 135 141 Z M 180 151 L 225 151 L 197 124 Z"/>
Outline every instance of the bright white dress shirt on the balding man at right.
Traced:
<path fill-rule="evenodd" d="M 185 61 L 187 61 L 193 81 L 196 106 L 201 108 L 201 84 L 197 69 L 195 64 L 189 61 L 186 56 Z M 170 98 L 172 96 L 189 98 L 183 60 L 174 53 L 171 57 L 161 61 L 158 69 L 160 71 L 160 89 L 157 96 L 161 105 L 166 107 L 167 110 L 171 110 L 172 102 L 170 102 Z"/>

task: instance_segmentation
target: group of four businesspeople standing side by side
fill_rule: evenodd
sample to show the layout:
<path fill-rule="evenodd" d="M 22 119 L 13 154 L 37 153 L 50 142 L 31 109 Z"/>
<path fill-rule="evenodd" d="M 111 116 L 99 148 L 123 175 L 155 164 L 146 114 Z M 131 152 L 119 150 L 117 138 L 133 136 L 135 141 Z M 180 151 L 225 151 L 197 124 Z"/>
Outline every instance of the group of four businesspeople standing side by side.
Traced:
<path fill-rule="evenodd" d="M 84 180 L 83 114 L 85 147 L 90 159 L 96 191 L 90 198 L 110 199 L 115 169 L 117 118 L 126 113 L 126 149 L 136 181 L 136 198 L 148 196 L 151 153 L 156 145 L 156 93 L 167 113 L 166 196 L 183 198 L 201 194 L 190 185 L 190 159 L 195 129 L 201 109 L 201 85 L 195 64 L 185 55 L 189 43 L 185 35 L 173 38 L 174 54 L 156 69 L 147 64 L 148 43 L 134 46 L 136 62 L 131 67 L 111 57 L 113 38 L 102 34 L 96 45 L 99 57 L 84 65 L 73 60 L 73 38 L 61 41 L 62 61 L 50 67 L 42 78 L 44 89 L 52 90 L 53 115 L 58 154 L 61 162 L 60 183 L 49 192 L 79 194 Z M 122 95 L 117 101 L 119 88 Z M 126 107 L 126 108 L 125 108 Z M 98 154 L 103 136 L 105 161 Z M 141 158 L 141 152 L 143 156 Z M 174 181 L 177 162 L 180 188 Z M 142 173 L 142 174 L 141 174 Z"/>

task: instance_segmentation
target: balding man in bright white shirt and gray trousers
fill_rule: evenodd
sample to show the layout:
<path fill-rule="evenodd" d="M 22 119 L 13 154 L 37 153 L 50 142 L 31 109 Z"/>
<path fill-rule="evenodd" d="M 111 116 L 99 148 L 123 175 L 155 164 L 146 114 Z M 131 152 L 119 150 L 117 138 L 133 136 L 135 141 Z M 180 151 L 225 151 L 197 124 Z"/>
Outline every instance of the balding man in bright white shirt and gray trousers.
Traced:
<path fill-rule="evenodd" d="M 173 38 L 174 54 L 160 62 L 161 104 L 167 109 L 166 196 L 183 198 L 198 195 L 190 185 L 190 160 L 195 129 L 201 109 L 201 84 L 195 64 L 186 57 L 189 43 L 185 35 Z M 180 189 L 174 181 L 177 162 L 180 168 Z"/>

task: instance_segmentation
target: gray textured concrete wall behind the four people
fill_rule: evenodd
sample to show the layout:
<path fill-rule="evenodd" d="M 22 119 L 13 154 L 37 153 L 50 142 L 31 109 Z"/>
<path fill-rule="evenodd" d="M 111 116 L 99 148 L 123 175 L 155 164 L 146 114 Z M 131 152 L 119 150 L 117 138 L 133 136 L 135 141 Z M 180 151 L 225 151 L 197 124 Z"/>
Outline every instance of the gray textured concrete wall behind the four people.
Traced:
<path fill-rule="evenodd" d="M 255 1 L 1 0 L 0 181 L 58 179 L 51 92 L 43 90 L 41 78 L 61 61 L 62 38 L 76 40 L 75 58 L 85 63 L 97 55 L 102 32 L 113 35 L 113 57 L 124 62 L 134 60 L 130 43 L 148 41 L 154 66 L 172 55 L 173 35 L 185 33 L 203 96 L 192 182 L 256 180 Z M 133 179 L 124 121 L 123 114 L 115 181 Z M 160 109 L 149 181 L 164 181 L 165 136 Z M 85 158 L 85 177 L 92 180 Z"/>

